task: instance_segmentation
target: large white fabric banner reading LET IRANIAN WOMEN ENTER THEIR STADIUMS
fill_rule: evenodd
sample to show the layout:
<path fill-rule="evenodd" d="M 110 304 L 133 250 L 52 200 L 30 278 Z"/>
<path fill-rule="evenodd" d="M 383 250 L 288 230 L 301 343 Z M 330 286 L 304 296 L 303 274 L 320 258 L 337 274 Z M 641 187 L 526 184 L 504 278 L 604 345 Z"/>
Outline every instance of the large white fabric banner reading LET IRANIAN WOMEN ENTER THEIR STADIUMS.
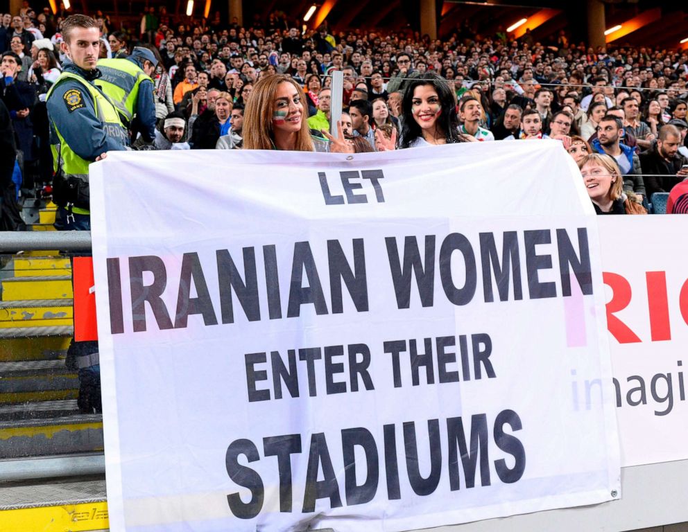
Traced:
<path fill-rule="evenodd" d="M 111 529 L 402 531 L 619 497 L 576 175 L 556 141 L 94 164 Z M 578 380 L 604 400 L 580 408 Z"/>

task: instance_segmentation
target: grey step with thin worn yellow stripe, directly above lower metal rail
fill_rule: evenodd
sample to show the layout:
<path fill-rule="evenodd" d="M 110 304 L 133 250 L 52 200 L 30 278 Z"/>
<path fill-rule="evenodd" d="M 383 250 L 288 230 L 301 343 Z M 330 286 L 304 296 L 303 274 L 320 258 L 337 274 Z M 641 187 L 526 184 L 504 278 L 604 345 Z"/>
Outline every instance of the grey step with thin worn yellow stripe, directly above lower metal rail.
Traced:
<path fill-rule="evenodd" d="M 76 401 L 61 402 L 71 402 L 76 407 Z M 0 406 L 1 409 L 3 407 Z M 54 406 L 50 409 L 55 411 Z M 28 415 L 29 412 L 24 414 Z M 102 451 L 101 414 L 78 414 L 72 411 L 66 416 L 0 421 L 0 456 L 4 458 Z"/>

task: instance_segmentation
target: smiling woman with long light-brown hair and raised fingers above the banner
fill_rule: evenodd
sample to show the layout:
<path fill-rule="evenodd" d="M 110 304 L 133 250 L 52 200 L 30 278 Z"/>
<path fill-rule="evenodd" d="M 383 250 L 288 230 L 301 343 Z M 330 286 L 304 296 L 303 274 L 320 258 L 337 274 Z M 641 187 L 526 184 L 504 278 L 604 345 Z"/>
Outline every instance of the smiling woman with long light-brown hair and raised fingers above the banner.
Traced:
<path fill-rule="evenodd" d="M 261 78 L 253 86 L 243 113 L 244 150 L 314 151 L 301 86 L 284 74 Z M 338 139 L 323 132 L 330 152 L 352 152 L 341 131 Z M 325 145 L 327 148 L 327 145 Z"/>

